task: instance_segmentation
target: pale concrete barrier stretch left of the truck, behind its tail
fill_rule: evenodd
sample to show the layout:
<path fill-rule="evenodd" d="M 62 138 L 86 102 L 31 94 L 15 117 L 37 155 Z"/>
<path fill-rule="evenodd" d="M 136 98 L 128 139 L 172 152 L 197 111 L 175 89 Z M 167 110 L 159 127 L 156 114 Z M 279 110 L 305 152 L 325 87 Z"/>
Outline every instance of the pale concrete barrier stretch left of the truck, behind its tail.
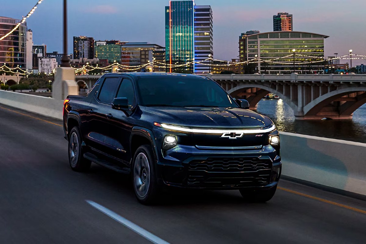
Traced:
<path fill-rule="evenodd" d="M 62 119 L 63 101 L 57 101 L 49 97 L 0 90 L 0 104 L 55 119 Z"/>

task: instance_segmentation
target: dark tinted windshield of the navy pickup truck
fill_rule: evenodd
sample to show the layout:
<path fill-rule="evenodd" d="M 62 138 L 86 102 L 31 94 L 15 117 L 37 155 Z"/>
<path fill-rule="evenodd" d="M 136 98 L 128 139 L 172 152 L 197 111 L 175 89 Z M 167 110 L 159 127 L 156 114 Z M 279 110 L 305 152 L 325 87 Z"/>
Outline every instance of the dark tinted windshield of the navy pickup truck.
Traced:
<path fill-rule="evenodd" d="M 221 86 L 203 77 L 140 78 L 137 89 L 142 106 L 238 107 Z"/>

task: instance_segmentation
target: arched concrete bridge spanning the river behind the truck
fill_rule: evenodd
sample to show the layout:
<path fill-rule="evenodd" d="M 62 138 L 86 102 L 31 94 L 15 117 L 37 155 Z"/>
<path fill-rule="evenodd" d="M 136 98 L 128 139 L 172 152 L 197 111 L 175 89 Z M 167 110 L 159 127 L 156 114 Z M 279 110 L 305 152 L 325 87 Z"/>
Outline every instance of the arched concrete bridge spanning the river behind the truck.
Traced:
<path fill-rule="evenodd" d="M 230 95 L 249 101 L 250 109 L 268 93 L 275 93 L 296 119 L 352 119 L 366 103 L 366 75 L 206 75 Z M 92 87 L 100 75 L 78 75 L 79 87 Z"/>

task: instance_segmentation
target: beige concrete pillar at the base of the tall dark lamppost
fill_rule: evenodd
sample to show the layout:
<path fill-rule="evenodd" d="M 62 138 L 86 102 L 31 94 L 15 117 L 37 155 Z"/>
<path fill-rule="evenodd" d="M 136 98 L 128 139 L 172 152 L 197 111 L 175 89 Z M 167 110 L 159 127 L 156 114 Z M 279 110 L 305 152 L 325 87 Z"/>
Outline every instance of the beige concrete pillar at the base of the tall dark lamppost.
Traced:
<path fill-rule="evenodd" d="M 64 100 L 67 95 L 79 95 L 79 86 L 75 82 L 75 70 L 70 67 L 59 67 L 52 86 L 52 98 Z"/>

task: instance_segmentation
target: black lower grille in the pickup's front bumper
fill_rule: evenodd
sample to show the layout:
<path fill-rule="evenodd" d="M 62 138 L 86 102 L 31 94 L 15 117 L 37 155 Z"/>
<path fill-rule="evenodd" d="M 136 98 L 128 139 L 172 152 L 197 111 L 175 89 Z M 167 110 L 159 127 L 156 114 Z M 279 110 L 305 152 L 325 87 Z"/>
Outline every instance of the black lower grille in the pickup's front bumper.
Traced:
<path fill-rule="evenodd" d="M 251 187 L 269 184 L 272 161 L 254 157 L 195 159 L 187 184 L 199 187 Z"/>

